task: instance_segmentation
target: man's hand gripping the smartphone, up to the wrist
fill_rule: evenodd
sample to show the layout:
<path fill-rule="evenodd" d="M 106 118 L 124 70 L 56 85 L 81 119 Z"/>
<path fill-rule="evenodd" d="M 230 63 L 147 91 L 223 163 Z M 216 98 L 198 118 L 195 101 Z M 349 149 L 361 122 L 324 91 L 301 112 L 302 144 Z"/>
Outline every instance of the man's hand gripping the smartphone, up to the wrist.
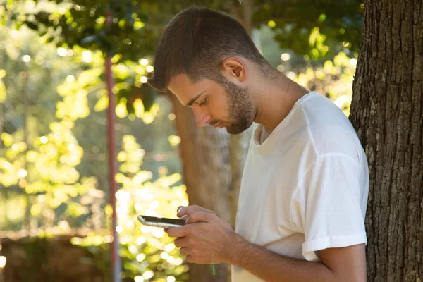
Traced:
<path fill-rule="evenodd" d="M 198 206 L 179 207 L 178 216 L 187 225 L 165 229 L 180 247 L 180 254 L 187 262 L 196 264 L 219 264 L 227 262 L 231 245 L 243 240 L 231 225 L 219 219 L 214 212 Z"/>

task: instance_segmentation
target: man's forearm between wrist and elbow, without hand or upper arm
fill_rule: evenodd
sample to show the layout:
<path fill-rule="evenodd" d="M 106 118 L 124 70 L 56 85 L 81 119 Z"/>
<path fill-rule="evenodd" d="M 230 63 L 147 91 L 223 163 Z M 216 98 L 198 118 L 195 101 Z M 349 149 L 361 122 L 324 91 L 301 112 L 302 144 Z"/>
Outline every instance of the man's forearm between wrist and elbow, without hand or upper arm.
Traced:
<path fill-rule="evenodd" d="M 321 262 L 283 257 L 240 238 L 228 248 L 228 263 L 267 282 L 342 281 Z"/>

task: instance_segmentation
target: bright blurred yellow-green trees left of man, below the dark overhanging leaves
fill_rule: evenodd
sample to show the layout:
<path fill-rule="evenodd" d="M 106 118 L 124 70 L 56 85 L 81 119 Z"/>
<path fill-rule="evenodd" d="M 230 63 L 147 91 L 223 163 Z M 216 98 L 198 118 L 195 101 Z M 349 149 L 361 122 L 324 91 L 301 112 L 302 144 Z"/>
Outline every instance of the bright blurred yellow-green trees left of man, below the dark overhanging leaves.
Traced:
<path fill-rule="evenodd" d="M 49 235 L 53 226 L 63 232 L 75 227 L 90 228 L 95 233 L 71 242 L 94 252 L 100 260 L 98 263 L 107 269 L 111 237 L 104 228 L 110 226 L 111 209 L 104 198 L 102 56 L 76 47 L 65 49 L 65 54 L 63 49 L 44 46 L 34 32 L 25 27 L 20 31 L 2 27 L 1 32 L 8 38 L 0 53 L 2 82 L 7 90 L 1 104 L 5 128 L 0 149 L 1 231 L 21 228 L 28 198 L 30 234 L 39 234 L 35 232 L 40 228 Z M 25 70 L 25 75 L 21 70 Z M 119 64 L 114 68 L 116 76 L 122 77 L 125 71 L 130 68 Z M 20 80 L 24 78 L 28 81 L 25 87 L 20 87 Z M 23 91 L 28 92 L 26 108 Z M 163 98 L 152 104 L 150 111 L 135 101 L 135 121 L 126 118 L 128 122 L 119 119 L 116 123 L 118 139 L 123 139 L 122 151 L 118 154 L 120 173 L 116 176 L 121 183 L 116 197 L 122 277 L 130 281 L 136 276 L 137 281 L 147 277 L 157 281 L 172 278 L 186 281 L 188 278 L 188 266 L 183 264 L 178 250 L 172 248 L 171 239 L 163 231 L 140 228 L 135 217 L 140 213 L 174 216 L 178 205 L 188 204 L 185 186 L 180 185 L 180 174 L 175 173 L 179 166 L 173 164 L 178 159 L 176 154 L 172 156 L 173 146 L 179 141 L 169 121 L 168 108 Z M 116 112 L 121 117 L 129 115 L 125 106 L 120 109 L 118 106 Z M 27 118 L 23 118 L 25 115 Z M 133 124 L 132 128 L 129 123 Z M 29 136 L 26 142 L 25 126 Z M 128 135 L 130 133 L 142 140 L 147 152 L 135 142 L 133 135 Z M 96 157 L 98 159 L 93 159 Z M 154 173 L 141 170 L 145 166 L 143 162 L 154 168 Z M 105 271 L 104 275 L 108 273 Z"/>

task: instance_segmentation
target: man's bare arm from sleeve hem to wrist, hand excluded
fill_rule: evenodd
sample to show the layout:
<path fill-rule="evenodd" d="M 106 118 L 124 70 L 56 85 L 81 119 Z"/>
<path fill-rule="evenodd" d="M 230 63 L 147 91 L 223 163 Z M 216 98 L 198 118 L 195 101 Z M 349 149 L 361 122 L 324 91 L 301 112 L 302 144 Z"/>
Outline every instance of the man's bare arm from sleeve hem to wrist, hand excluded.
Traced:
<path fill-rule="evenodd" d="M 291 259 L 246 240 L 233 245 L 228 262 L 264 281 L 366 281 L 364 244 L 319 251 L 321 262 Z"/>

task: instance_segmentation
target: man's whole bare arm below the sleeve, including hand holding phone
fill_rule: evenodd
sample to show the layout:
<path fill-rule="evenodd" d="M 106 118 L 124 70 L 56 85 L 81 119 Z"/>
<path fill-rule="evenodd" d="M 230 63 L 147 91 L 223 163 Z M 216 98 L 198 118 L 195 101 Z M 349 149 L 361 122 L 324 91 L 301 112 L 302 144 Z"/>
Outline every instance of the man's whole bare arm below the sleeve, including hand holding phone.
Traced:
<path fill-rule="evenodd" d="M 214 212 L 197 206 L 183 207 L 178 216 L 188 216 L 187 225 L 166 230 L 180 247 L 187 262 L 228 262 L 264 281 L 366 281 L 364 244 L 319 251 L 321 262 L 283 257 L 247 242 Z"/>

